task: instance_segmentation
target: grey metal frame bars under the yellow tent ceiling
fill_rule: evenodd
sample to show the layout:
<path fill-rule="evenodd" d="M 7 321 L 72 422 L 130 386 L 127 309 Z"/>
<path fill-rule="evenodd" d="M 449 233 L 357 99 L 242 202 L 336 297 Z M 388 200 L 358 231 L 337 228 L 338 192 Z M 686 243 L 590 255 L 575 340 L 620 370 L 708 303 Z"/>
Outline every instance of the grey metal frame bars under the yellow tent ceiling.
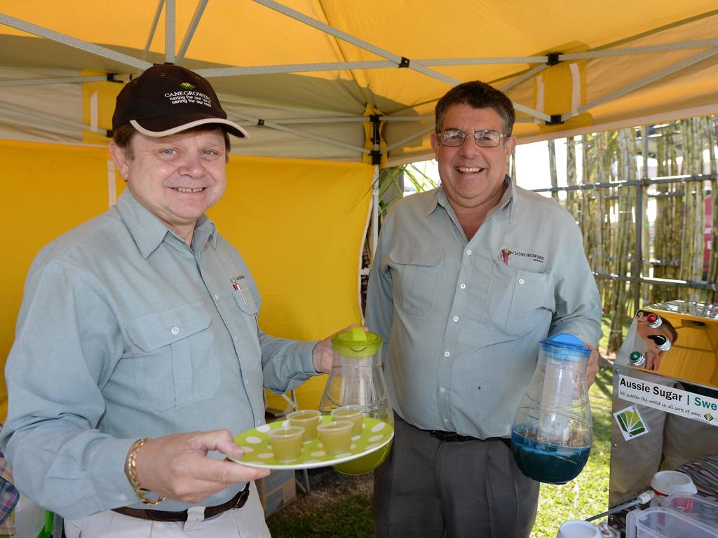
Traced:
<path fill-rule="evenodd" d="M 331 35 L 332 37 L 336 37 L 337 39 L 342 39 L 346 42 L 349 42 L 351 44 L 354 44 L 356 47 L 359 47 L 361 49 L 368 50 L 369 52 L 373 52 L 373 54 L 376 54 L 380 57 L 383 57 L 385 60 L 378 60 L 378 61 L 368 61 L 368 62 L 326 62 L 326 63 L 314 63 L 314 64 L 292 64 L 292 65 L 265 65 L 265 66 L 253 66 L 253 67 L 223 67 L 223 68 L 217 68 L 217 69 L 205 69 L 205 70 L 196 70 L 197 73 L 199 73 L 202 76 L 205 77 L 222 77 L 222 76 L 241 76 L 241 75 L 260 75 L 260 74 L 275 74 L 275 73 L 286 73 L 286 72 L 312 72 L 312 71 L 330 71 L 330 70 L 363 70 L 363 69 L 381 69 L 381 68 L 396 68 L 396 67 L 408 67 L 409 69 L 412 69 L 416 72 L 420 72 L 423 75 L 432 77 L 436 80 L 440 80 L 442 82 L 447 82 L 450 85 L 456 85 L 460 82 L 460 80 L 456 80 L 452 77 L 449 77 L 447 75 L 443 75 L 440 72 L 434 71 L 429 69 L 427 66 L 460 66 L 460 65 L 496 65 L 496 64 L 532 64 L 537 63 L 539 65 L 536 65 L 535 67 L 532 67 L 531 69 L 524 70 L 523 72 L 517 72 L 515 75 L 507 75 L 505 77 L 502 77 L 499 80 L 510 80 L 511 77 L 514 77 L 513 80 L 510 80 L 506 85 L 503 85 L 501 88 L 503 91 L 510 90 L 511 88 L 515 88 L 517 85 L 521 84 L 521 82 L 525 82 L 526 80 L 531 79 L 534 75 L 538 74 L 542 70 L 546 69 L 546 67 L 549 66 L 549 56 L 528 56 L 528 57 L 486 57 L 486 58 L 454 58 L 454 59 L 423 59 L 423 60 L 409 60 L 405 57 L 401 57 L 399 55 L 393 54 L 392 52 L 388 52 L 384 49 L 381 49 L 380 47 L 376 47 L 375 45 L 365 42 L 363 39 L 359 39 L 357 37 L 354 37 L 350 34 L 347 34 L 345 32 L 342 32 L 339 29 L 335 29 L 334 27 L 331 27 L 328 24 L 325 24 L 323 22 L 320 22 L 317 19 L 312 19 L 309 16 L 306 16 L 299 11 L 295 11 L 294 9 L 290 9 L 289 7 L 284 6 L 283 4 L 280 4 L 278 1 L 275 0 L 253 0 L 258 4 L 261 4 L 262 6 L 268 7 L 269 9 L 273 9 L 274 11 L 279 11 L 279 13 L 284 14 L 285 16 L 289 16 L 292 19 L 295 19 L 299 22 L 302 22 L 304 24 L 308 24 L 309 26 L 319 29 L 322 32 L 325 32 L 326 34 Z M 197 6 L 195 8 L 195 13 L 192 16 L 192 20 L 190 21 L 189 26 L 187 27 L 187 32 L 185 32 L 185 36 L 182 39 L 182 44 L 180 45 L 180 49 L 177 50 L 177 53 L 175 52 L 175 31 L 176 31 L 176 0 L 159 0 L 157 5 L 157 11 L 154 14 L 154 20 L 151 25 L 151 29 L 149 32 L 149 36 L 147 38 L 146 47 L 144 49 L 143 59 L 140 60 L 135 57 L 131 57 L 129 55 L 124 55 L 121 52 L 116 52 L 112 49 L 108 49 L 106 47 L 101 47 L 100 45 L 93 44 L 90 42 L 85 42 L 81 39 L 76 39 L 74 37 L 70 37 L 66 34 L 62 34 L 60 32 L 55 32 L 53 30 L 47 29 L 45 27 L 40 27 L 37 24 L 32 24 L 27 21 L 23 21 L 21 19 L 17 19 L 15 17 L 1 14 L 0 13 L 0 24 L 4 24 L 6 26 L 12 27 L 14 29 L 19 29 L 23 32 L 27 32 L 29 34 L 37 35 L 38 37 L 44 37 L 45 39 L 50 39 L 55 42 L 59 42 L 62 44 L 65 44 L 70 47 L 74 47 L 80 50 L 83 50 L 85 52 L 89 52 L 90 54 L 96 55 L 98 57 L 103 57 L 108 60 L 113 60 L 116 62 L 120 62 L 123 65 L 129 65 L 131 67 L 134 67 L 139 70 L 145 70 L 148 67 L 151 67 L 150 62 L 146 62 L 144 60 L 144 57 L 149 52 L 149 47 L 151 46 L 151 42 L 154 39 L 154 34 L 157 30 L 157 24 L 159 22 L 159 17 L 161 16 L 162 9 L 164 7 L 165 11 L 165 61 L 169 63 L 181 63 L 185 59 L 185 55 L 187 53 L 187 49 L 190 46 L 190 43 L 192 41 L 192 38 L 195 35 L 195 32 L 197 30 L 197 26 L 200 22 L 200 19 L 202 18 L 202 15 L 204 14 L 205 8 L 208 4 L 208 0 L 197 0 Z M 677 62 L 674 65 L 671 65 L 669 67 L 666 67 L 658 72 L 655 72 L 651 75 L 648 75 L 647 77 L 643 77 L 640 80 L 637 80 L 629 85 L 626 85 L 623 88 L 619 88 L 618 90 L 615 90 L 611 93 L 608 93 L 607 95 L 603 95 L 601 98 L 598 98 L 591 103 L 586 103 L 585 105 L 582 105 L 577 110 L 573 110 L 570 113 L 565 113 L 560 116 L 560 121 L 565 121 L 568 118 L 574 117 L 574 115 L 577 115 L 579 113 L 585 112 L 587 110 L 590 110 L 591 108 L 594 108 L 597 105 L 601 105 L 603 103 L 607 103 L 610 100 L 613 100 L 615 98 L 620 97 L 621 95 L 625 95 L 626 93 L 630 93 L 633 90 L 636 90 L 638 88 L 641 88 L 645 85 L 650 84 L 651 82 L 655 82 L 656 80 L 660 80 L 663 77 L 666 77 L 668 75 L 673 74 L 674 72 L 677 72 L 679 70 L 682 70 L 686 67 L 689 67 L 691 65 L 694 65 L 697 62 L 701 62 L 702 60 L 705 60 L 709 57 L 712 57 L 716 54 L 718 54 L 718 39 L 701 39 L 701 40 L 695 40 L 695 41 L 689 41 L 689 42 L 680 42 L 680 43 L 666 43 L 666 44 L 655 44 L 645 47 L 627 47 L 627 48 L 621 48 L 621 49 L 615 49 L 612 47 L 617 47 L 619 45 L 635 41 L 637 39 L 640 39 L 642 37 L 646 37 L 652 34 L 656 34 L 659 32 L 663 32 L 666 29 L 671 29 L 674 27 L 679 27 L 682 24 L 688 24 L 690 22 L 694 22 L 696 20 L 705 19 L 709 16 L 714 16 L 718 14 L 718 9 L 714 11 L 708 11 L 707 13 L 700 14 L 697 16 L 689 17 L 688 19 L 683 19 L 679 22 L 674 22 L 671 24 L 666 24 L 663 27 L 657 27 L 655 29 L 648 30 L 646 32 L 642 32 L 640 34 L 636 34 L 632 37 L 626 37 L 624 39 L 617 40 L 612 43 L 607 43 L 604 45 L 601 45 L 600 47 L 595 47 L 595 49 L 586 51 L 586 52 L 577 52 L 577 53 L 567 53 L 567 54 L 561 54 L 558 53 L 553 59 L 557 59 L 559 62 L 566 62 L 566 61 L 573 61 L 573 60 L 593 60 L 596 58 L 602 58 L 602 57 L 613 57 L 613 56 L 620 56 L 620 55 L 638 55 L 638 54 L 648 54 L 653 52 L 667 52 L 667 51 L 678 51 L 678 50 L 686 50 L 686 49 L 706 49 L 702 52 L 699 52 L 699 54 L 691 56 L 689 58 L 686 58 L 685 60 L 682 60 L 681 62 Z M 118 75 L 113 75 L 113 77 L 117 77 Z M 0 80 L 0 87 L 9 87 L 9 86 L 23 86 L 23 85 L 48 85 L 48 84 L 56 84 L 56 83 L 78 83 L 78 82 L 99 82 L 103 80 L 110 80 L 108 77 L 54 77 L 54 78 L 47 78 L 47 79 L 24 79 L 24 80 Z M 116 80 L 116 78 L 115 78 Z M 551 116 L 547 115 L 545 113 L 542 113 L 539 110 L 535 110 L 533 108 L 529 108 L 525 105 L 521 105 L 520 103 L 513 103 L 514 108 L 518 112 L 526 113 L 527 115 L 532 116 L 532 118 L 517 118 L 518 122 L 526 123 L 526 122 L 534 122 L 536 119 L 540 119 L 543 121 L 546 121 L 547 123 L 551 122 Z M 24 113 L 27 115 L 33 115 L 37 118 L 42 118 L 44 120 L 48 121 L 54 121 L 55 123 L 62 123 L 65 125 L 70 125 L 75 128 L 80 129 L 88 129 L 88 126 L 85 126 L 83 123 L 68 121 L 63 118 L 57 118 L 52 115 L 48 115 L 45 113 L 38 113 L 34 110 L 24 109 L 20 107 L 15 107 L 14 105 L 9 105 L 7 103 L 0 103 L 0 108 L 5 108 L 6 110 L 14 110 L 18 113 Z M 250 116 L 244 116 L 241 114 L 236 114 L 238 117 L 243 118 L 249 125 L 262 125 L 269 128 L 274 128 L 278 131 L 283 131 L 285 133 L 290 133 L 295 136 L 301 136 L 303 138 L 309 138 L 314 141 L 319 141 L 322 143 L 327 143 L 333 146 L 338 146 L 342 148 L 347 148 L 352 151 L 358 151 L 361 154 L 369 154 L 370 150 L 364 147 L 359 146 L 353 146 L 348 143 L 343 143 L 339 141 L 332 140 L 330 138 L 325 138 L 323 136 L 317 136 L 310 133 L 305 133 L 303 131 L 297 131 L 296 129 L 292 129 L 289 127 L 286 127 L 286 125 L 290 124 L 299 124 L 299 123 L 345 123 L 345 122 L 366 122 L 370 121 L 369 118 L 365 116 L 357 116 L 357 117 L 335 117 L 335 118 L 287 118 L 283 120 L 274 120 L 274 121 L 266 121 L 266 120 L 259 120 L 257 118 L 251 118 Z M 380 121 L 433 121 L 432 116 L 381 116 Z M 430 126 L 427 128 L 421 128 L 420 131 L 415 133 L 414 135 L 411 135 L 409 137 L 406 137 L 402 139 L 401 141 L 397 141 L 396 143 L 392 143 L 391 146 L 388 146 L 387 148 L 383 149 L 381 151 L 382 154 L 387 154 L 388 151 L 391 151 L 394 148 L 397 148 L 399 146 L 402 146 L 404 143 L 413 140 L 414 138 L 418 138 L 419 136 L 424 136 L 424 134 L 432 131 L 434 126 Z M 107 131 L 99 130 L 103 133 L 107 133 Z"/>

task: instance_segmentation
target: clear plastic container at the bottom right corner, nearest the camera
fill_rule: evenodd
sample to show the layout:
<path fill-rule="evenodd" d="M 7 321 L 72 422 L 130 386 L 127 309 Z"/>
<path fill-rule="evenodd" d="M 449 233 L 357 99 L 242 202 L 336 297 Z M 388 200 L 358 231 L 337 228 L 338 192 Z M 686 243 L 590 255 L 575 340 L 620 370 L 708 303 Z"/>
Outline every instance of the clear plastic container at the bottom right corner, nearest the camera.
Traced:
<path fill-rule="evenodd" d="M 626 538 L 717 538 L 718 530 L 679 511 L 656 506 L 626 515 Z"/>

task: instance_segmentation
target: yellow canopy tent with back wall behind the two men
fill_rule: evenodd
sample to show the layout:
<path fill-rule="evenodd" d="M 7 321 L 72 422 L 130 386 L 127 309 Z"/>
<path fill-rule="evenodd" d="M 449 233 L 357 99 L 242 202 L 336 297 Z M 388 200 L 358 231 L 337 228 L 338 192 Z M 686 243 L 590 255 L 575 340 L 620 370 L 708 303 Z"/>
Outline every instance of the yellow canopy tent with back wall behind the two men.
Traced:
<path fill-rule="evenodd" d="M 432 156 L 450 86 L 501 88 L 534 141 L 718 113 L 717 53 L 712 0 L 0 0 L 0 357 L 39 246 L 116 197 L 114 95 L 151 62 L 208 77 L 248 129 L 213 217 L 256 273 L 264 328 L 320 338 L 360 321 L 373 174 Z"/>

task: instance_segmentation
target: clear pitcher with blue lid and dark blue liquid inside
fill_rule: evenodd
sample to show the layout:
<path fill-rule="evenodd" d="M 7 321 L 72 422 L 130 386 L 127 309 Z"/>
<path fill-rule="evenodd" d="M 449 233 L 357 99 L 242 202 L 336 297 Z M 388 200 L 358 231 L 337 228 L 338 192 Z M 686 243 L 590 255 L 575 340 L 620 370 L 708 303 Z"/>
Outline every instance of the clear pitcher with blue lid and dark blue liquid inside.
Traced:
<path fill-rule="evenodd" d="M 511 427 L 511 450 L 529 478 L 567 483 L 583 470 L 591 451 L 590 350 L 571 334 L 540 344 L 536 371 Z"/>

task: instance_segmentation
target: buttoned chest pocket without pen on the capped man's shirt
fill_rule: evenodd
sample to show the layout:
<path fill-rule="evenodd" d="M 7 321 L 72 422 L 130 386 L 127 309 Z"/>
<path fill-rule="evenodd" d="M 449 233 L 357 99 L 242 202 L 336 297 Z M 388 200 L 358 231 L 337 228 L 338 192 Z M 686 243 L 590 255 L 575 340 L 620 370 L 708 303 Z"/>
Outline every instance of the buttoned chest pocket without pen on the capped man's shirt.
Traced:
<path fill-rule="evenodd" d="M 125 357 L 134 370 L 138 400 L 154 412 L 213 397 L 220 384 L 212 317 L 202 303 L 142 316 L 125 325 L 136 346 Z"/>

